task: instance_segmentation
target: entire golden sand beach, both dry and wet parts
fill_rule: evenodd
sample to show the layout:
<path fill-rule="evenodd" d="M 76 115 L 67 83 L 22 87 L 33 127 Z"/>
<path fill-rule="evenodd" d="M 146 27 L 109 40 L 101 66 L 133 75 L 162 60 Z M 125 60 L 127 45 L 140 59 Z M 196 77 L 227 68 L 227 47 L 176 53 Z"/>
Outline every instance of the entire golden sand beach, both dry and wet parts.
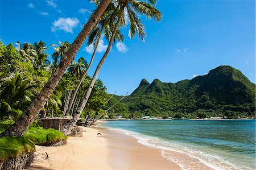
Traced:
<path fill-rule="evenodd" d="M 180 169 L 164 159 L 160 150 L 143 146 L 121 132 L 84 130 L 82 137 L 69 137 L 65 146 L 36 146 L 35 161 L 28 169 Z"/>

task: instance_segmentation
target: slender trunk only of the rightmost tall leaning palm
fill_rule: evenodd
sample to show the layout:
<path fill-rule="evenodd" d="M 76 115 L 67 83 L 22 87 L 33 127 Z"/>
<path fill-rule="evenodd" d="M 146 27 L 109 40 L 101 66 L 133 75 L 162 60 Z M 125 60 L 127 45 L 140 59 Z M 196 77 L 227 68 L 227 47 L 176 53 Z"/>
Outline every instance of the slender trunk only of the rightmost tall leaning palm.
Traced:
<path fill-rule="evenodd" d="M 90 93 L 92 92 L 93 86 L 94 86 L 94 84 L 97 80 L 98 73 L 100 72 L 100 69 L 101 69 L 102 65 L 104 64 L 104 62 L 106 60 L 106 57 L 108 57 L 110 49 L 113 45 L 114 37 L 115 37 L 115 34 L 116 34 L 117 29 L 119 27 L 119 24 L 121 23 L 121 18 L 122 18 L 123 12 L 124 12 L 124 7 L 122 6 L 121 10 L 119 12 L 117 23 L 115 24 L 115 27 L 114 27 L 112 37 L 111 37 L 110 42 L 109 42 L 108 48 L 107 48 L 104 56 L 102 57 L 100 63 L 98 64 L 96 71 L 94 72 L 92 81 L 90 82 L 89 88 L 88 88 L 88 90 L 87 90 L 87 92 L 84 96 L 84 99 L 82 99 L 81 105 L 79 106 L 79 109 L 77 109 L 76 114 L 73 116 L 71 121 L 65 127 L 63 127 L 63 129 L 61 129 L 61 131 L 64 133 L 64 135 L 68 135 L 71 132 L 72 128 L 76 125 L 77 120 L 80 118 L 82 110 L 84 110 L 84 107 L 85 107 L 85 105 L 86 105 L 86 103 L 87 103 L 87 101 L 90 97 Z"/>

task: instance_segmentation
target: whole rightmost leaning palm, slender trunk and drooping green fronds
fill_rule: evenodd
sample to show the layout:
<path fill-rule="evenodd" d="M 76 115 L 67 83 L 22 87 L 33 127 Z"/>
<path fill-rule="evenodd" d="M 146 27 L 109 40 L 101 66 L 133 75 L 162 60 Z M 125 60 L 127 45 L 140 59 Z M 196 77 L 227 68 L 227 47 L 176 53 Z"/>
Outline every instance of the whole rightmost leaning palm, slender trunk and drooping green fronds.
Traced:
<path fill-rule="evenodd" d="M 145 14 L 148 18 L 153 18 L 156 21 L 160 21 L 162 18 L 162 13 L 160 13 L 159 10 L 157 10 L 154 6 L 150 5 L 147 2 L 141 2 L 136 0 L 118 0 L 117 1 L 117 10 L 115 13 L 118 13 L 118 19 L 117 22 L 114 25 L 110 25 L 110 27 L 114 27 L 111 39 L 108 45 L 108 48 L 102 57 L 100 63 L 98 64 L 96 71 L 94 72 L 92 81 L 90 82 L 89 88 L 84 96 L 84 99 L 82 99 L 81 105 L 76 111 L 76 114 L 73 116 L 71 121 L 65 126 L 61 131 L 64 132 L 65 135 L 68 135 L 70 131 L 72 130 L 73 126 L 75 126 L 77 120 L 79 119 L 82 110 L 84 110 L 84 107 L 90 97 L 90 93 L 92 92 L 93 86 L 95 81 L 97 80 L 98 73 L 100 72 L 100 69 L 102 65 L 104 64 L 106 57 L 109 55 L 110 49 L 112 48 L 115 34 L 117 33 L 118 27 L 121 23 L 125 24 L 125 22 L 122 22 L 125 20 L 125 10 L 127 10 L 128 19 L 130 23 L 130 30 L 129 30 L 129 36 L 131 38 L 134 38 L 136 33 L 138 33 L 138 36 L 142 38 L 142 41 L 144 41 L 144 36 L 146 36 L 144 25 L 142 24 L 141 19 L 139 19 L 138 14 Z M 122 25 L 121 25 L 122 26 Z"/>

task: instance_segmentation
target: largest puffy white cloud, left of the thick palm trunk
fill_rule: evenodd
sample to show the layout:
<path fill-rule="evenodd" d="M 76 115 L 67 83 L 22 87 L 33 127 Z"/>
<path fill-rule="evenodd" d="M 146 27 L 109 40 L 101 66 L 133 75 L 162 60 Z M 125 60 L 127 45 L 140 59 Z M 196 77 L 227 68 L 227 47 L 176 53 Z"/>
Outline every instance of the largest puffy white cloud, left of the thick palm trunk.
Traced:
<path fill-rule="evenodd" d="M 73 33 L 73 28 L 79 24 L 79 20 L 77 18 L 59 18 L 52 24 L 52 32 L 63 30 L 65 32 Z"/>

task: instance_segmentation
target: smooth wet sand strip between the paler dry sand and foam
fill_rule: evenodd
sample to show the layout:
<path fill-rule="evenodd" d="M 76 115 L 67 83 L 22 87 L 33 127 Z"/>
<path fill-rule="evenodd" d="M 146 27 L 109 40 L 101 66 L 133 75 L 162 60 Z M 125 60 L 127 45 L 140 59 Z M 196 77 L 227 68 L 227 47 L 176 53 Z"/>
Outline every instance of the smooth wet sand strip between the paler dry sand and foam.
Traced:
<path fill-rule="evenodd" d="M 109 128 L 98 128 L 107 139 L 110 164 L 114 169 L 181 169 L 165 159 L 161 151 L 144 146 L 137 139 Z"/>

